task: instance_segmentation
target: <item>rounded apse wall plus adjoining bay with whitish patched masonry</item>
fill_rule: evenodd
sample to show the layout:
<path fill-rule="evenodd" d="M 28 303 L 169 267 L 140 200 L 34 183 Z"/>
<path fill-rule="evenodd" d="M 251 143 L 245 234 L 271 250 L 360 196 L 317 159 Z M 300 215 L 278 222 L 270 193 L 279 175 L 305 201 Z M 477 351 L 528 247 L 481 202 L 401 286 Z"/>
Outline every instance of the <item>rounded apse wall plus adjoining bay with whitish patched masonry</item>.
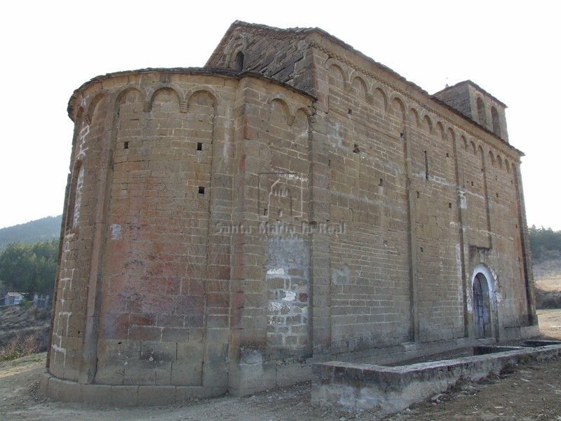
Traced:
<path fill-rule="evenodd" d="M 205 72 L 126 79 L 104 78 L 76 100 L 86 129 L 72 158 L 50 373 L 217 394 L 248 349 L 310 354 L 311 100 Z M 92 207 L 97 223 L 86 220 Z M 77 261 L 69 241 L 96 228 Z M 78 301 L 77 266 L 94 273 L 95 298 Z"/>

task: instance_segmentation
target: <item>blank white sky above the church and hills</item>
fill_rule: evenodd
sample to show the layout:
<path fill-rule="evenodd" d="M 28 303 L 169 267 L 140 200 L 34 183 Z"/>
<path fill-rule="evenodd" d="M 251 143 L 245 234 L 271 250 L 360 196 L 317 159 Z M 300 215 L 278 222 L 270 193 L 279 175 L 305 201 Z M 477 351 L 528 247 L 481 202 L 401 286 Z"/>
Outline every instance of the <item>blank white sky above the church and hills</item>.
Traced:
<path fill-rule="evenodd" d="M 520 2 L 522 3 L 522 2 Z M 508 105 L 529 225 L 561 229 L 555 1 L 4 1 L 0 227 L 62 213 L 67 102 L 99 74 L 203 66 L 234 20 L 320 27 L 428 93 L 471 79 Z"/>

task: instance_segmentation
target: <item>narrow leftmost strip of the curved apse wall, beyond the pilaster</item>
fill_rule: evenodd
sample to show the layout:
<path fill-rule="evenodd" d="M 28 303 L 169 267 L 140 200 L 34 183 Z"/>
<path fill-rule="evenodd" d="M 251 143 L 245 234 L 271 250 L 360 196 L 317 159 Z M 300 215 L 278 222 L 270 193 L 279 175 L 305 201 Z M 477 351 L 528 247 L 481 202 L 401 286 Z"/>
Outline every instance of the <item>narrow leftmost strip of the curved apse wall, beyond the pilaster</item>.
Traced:
<path fill-rule="evenodd" d="M 88 359 L 83 341 L 91 333 L 87 321 L 92 316 L 93 298 L 88 290 L 95 288 L 97 281 L 104 177 L 111 155 L 107 125 L 110 115 L 104 97 L 91 98 L 87 112 L 79 110 L 72 142 L 49 359 L 51 373 L 69 380 L 79 380 L 83 360 Z"/>

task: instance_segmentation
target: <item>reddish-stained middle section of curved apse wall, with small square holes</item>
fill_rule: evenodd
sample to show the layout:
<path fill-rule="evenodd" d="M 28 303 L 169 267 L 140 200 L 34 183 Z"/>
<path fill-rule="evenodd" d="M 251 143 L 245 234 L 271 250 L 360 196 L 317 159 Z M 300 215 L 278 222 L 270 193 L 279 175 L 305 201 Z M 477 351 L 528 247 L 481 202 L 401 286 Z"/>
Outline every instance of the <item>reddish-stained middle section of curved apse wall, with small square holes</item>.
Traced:
<path fill-rule="evenodd" d="M 231 174 L 224 130 L 215 128 L 217 120 L 231 125 L 231 117 L 217 109 L 222 78 L 174 79 L 141 82 L 119 98 L 97 349 L 101 383 L 201 386 L 208 358 L 217 359 L 212 370 L 225 370 L 230 243 L 213 235 L 212 223 L 224 219 L 217 207 L 231 202 L 231 185 L 222 176 L 222 191 L 215 191 L 220 174 L 212 166 Z M 233 98 L 234 89 L 219 94 Z M 207 328 L 215 356 L 205 355 Z"/>

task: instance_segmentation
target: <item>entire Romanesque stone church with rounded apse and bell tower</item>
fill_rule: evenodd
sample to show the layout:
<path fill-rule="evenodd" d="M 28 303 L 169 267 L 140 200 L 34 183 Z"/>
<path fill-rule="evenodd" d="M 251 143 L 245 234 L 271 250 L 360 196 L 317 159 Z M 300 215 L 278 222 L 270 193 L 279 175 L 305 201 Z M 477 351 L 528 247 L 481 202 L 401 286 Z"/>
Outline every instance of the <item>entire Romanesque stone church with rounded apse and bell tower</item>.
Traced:
<path fill-rule="evenodd" d="M 505 108 L 239 21 L 203 68 L 84 83 L 43 393 L 243 395 L 538 334 Z"/>

